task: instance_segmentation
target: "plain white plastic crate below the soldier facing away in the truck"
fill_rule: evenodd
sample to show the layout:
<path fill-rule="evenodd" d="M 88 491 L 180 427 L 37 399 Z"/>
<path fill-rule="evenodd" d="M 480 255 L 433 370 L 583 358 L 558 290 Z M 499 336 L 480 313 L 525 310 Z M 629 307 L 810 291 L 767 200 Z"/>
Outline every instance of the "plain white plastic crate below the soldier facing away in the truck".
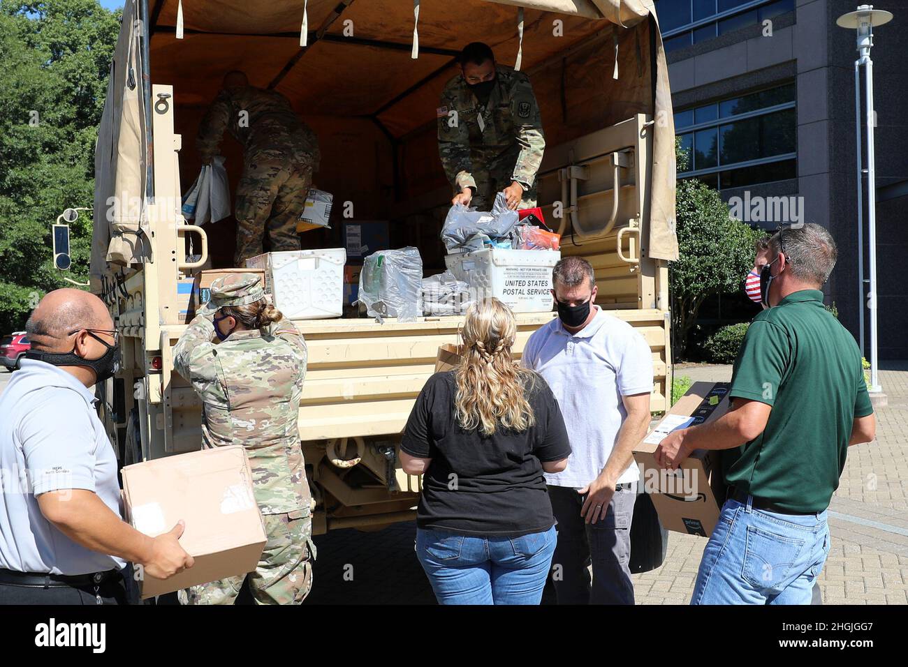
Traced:
<path fill-rule="evenodd" d="M 289 319 L 340 318 L 343 315 L 343 266 L 347 250 L 285 250 L 246 260 L 265 271 L 265 291 Z"/>

